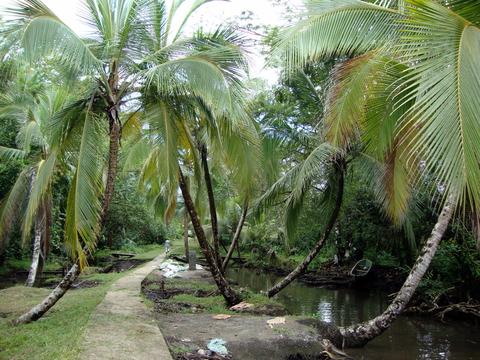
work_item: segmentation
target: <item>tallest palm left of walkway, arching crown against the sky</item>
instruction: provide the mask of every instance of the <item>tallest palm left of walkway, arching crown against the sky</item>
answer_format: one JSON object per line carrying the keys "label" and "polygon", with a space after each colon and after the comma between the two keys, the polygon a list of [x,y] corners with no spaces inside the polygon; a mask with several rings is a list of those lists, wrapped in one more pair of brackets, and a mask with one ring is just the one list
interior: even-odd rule
{"label": "tallest palm left of walkway, arching crown against the sky", "polygon": [[[101,223],[114,191],[122,127],[139,106],[142,88],[159,97],[196,96],[219,112],[230,106],[225,74],[235,69],[223,72],[222,66],[231,63],[236,51],[202,36],[183,37],[188,18],[206,2],[175,0],[168,7],[163,0],[85,0],[81,17],[88,28],[85,36],[76,34],[41,0],[18,0],[9,9],[9,36],[20,39],[27,59],[53,58],[90,83],[91,101],[83,104],[86,109],[95,104],[96,117],[109,128]],[[81,246],[76,255],[85,257]],[[71,270],[74,278],[79,269]],[[64,291],[58,294],[61,297]],[[50,299],[49,307],[58,298]]]}

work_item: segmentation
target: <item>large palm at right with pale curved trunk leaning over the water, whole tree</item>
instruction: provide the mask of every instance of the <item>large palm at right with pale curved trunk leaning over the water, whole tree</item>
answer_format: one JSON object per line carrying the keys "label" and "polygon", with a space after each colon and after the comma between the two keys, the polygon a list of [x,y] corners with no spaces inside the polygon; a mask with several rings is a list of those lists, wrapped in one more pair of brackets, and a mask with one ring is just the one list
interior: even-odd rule
{"label": "large palm at right with pale curved trunk leaning over the water, whole tree", "polygon": [[401,314],[435,255],[456,208],[480,206],[480,4],[477,1],[310,1],[281,48],[294,67],[355,57],[337,70],[327,137],[340,147],[359,138],[388,165],[387,211],[405,214],[425,173],[443,204],[430,237],[386,311],[339,329],[362,346]]}

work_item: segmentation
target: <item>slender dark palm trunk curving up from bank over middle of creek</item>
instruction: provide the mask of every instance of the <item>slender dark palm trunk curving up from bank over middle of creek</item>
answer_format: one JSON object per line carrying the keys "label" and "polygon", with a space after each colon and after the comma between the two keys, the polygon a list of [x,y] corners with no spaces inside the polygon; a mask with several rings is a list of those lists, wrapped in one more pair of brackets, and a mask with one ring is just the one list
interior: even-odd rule
{"label": "slender dark palm trunk curving up from bank over middle of creek", "polygon": [[325,240],[328,238],[330,233],[333,230],[333,227],[335,225],[335,222],[337,221],[338,214],[340,213],[340,208],[342,206],[342,200],[343,200],[343,188],[344,188],[344,182],[345,182],[345,166],[343,164],[340,164],[339,167],[339,178],[338,178],[338,192],[337,192],[337,198],[335,201],[335,207],[330,214],[330,218],[328,219],[327,226],[325,228],[325,231],[321,235],[320,239],[317,241],[315,246],[310,250],[306,258],[302,261],[301,264],[299,264],[290,274],[285,276],[280,282],[275,284],[271,289],[267,291],[267,296],[272,297],[278,294],[281,290],[283,290],[286,286],[288,286],[293,280],[295,280],[297,277],[299,277],[301,274],[305,272],[307,269],[308,265],[315,259],[315,257],[318,255],[320,250],[322,249],[323,245],[325,244]]}

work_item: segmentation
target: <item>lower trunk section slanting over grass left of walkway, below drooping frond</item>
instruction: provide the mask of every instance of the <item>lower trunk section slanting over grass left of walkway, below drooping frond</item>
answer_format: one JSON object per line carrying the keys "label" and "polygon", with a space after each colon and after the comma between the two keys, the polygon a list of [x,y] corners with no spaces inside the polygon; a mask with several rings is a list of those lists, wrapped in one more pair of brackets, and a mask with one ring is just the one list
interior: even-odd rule
{"label": "lower trunk section slanting over grass left of walkway, below drooping frond", "polygon": [[31,310],[15,320],[14,324],[27,324],[40,319],[43,314],[45,314],[53,305],[55,305],[63,295],[65,295],[79,274],[80,267],[78,264],[73,265],[60,284],[58,284],[57,287],[53,289],[53,291],[45,299],[43,299],[40,304],[34,306]]}

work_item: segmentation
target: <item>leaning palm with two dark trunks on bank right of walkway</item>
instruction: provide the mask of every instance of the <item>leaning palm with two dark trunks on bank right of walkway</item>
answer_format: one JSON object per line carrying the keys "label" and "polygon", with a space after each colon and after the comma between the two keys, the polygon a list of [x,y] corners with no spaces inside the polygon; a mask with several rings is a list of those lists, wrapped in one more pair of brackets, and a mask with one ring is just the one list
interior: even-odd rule
{"label": "leaning palm with two dark trunks on bank right of walkway", "polygon": [[[186,105],[186,99],[182,99]],[[166,104],[154,104],[154,109],[148,111],[149,130],[144,141],[150,144],[142,166],[142,187],[150,193],[158,204],[165,204],[166,216],[173,214],[176,205],[177,189],[180,188],[184,207],[192,222],[192,227],[200,248],[207,259],[212,276],[229,305],[240,301],[240,297],[231,288],[223,275],[222,263],[215,249],[215,235],[218,236],[217,204],[213,196],[213,182],[209,163],[215,163],[217,168],[223,164],[226,172],[238,174],[237,179],[247,181],[250,165],[245,162],[249,153],[248,146],[255,147],[254,137],[248,127],[228,124],[226,119],[214,117],[212,113],[182,109],[180,104],[175,108],[165,109]],[[199,106],[196,99],[192,100],[194,107]],[[204,108],[204,104],[201,105]],[[150,109],[153,110],[153,109]],[[180,114],[183,110],[183,114]],[[234,114],[231,115],[234,118]],[[238,127],[238,128],[237,128]],[[240,134],[239,134],[240,131]],[[254,135],[254,133],[253,133]],[[212,149],[212,151],[208,151]],[[242,151],[237,151],[237,150]],[[250,150],[251,151],[251,150]],[[210,155],[207,155],[210,153]],[[242,166],[243,164],[243,166]],[[240,174],[239,168],[244,172]],[[206,193],[208,211],[210,214],[212,242],[208,241],[205,227],[202,226],[199,205],[188,186],[193,183],[196,194]],[[197,197],[197,200],[199,198]],[[214,230],[215,229],[215,230]]]}

